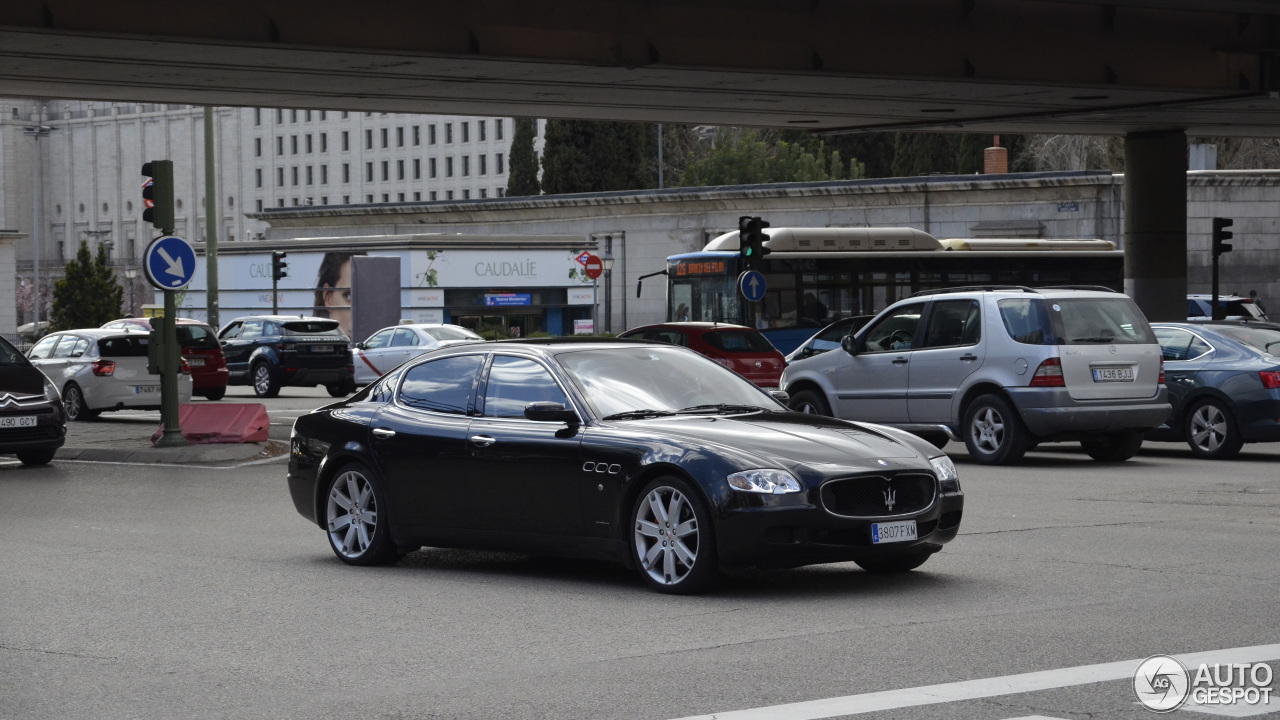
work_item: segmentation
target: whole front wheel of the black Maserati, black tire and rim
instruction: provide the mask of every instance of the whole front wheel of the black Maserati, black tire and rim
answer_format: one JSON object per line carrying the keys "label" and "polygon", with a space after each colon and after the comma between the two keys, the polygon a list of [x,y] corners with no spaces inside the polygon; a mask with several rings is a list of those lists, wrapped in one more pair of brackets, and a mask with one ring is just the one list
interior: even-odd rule
{"label": "whole front wheel of the black Maserati, black tire and rim", "polygon": [[[645,484],[631,506],[628,536],[640,578],[660,593],[701,592],[719,575],[716,528],[707,503],[699,489],[680,478]],[[669,546],[668,537],[673,538]]]}

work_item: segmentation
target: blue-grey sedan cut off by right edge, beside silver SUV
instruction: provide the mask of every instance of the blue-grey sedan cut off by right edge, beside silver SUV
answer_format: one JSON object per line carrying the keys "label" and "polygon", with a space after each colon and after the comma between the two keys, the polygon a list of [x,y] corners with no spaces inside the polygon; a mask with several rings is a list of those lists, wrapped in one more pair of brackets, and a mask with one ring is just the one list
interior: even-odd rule
{"label": "blue-grey sedan cut off by right edge, beside silver SUV", "polygon": [[1280,441],[1280,329],[1249,322],[1156,323],[1174,406],[1147,439],[1185,441],[1199,457],[1234,457]]}

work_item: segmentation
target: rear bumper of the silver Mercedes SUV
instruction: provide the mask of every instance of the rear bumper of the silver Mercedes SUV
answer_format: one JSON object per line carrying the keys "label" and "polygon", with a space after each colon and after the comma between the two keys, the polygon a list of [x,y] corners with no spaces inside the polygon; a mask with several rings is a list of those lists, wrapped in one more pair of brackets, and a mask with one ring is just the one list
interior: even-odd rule
{"label": "rear bumper of the silver Mercedes SUV", "polygon": [[1169,418],[1169,388],[1132,400],[1075,400],[1066,388],[1006,388],[1027,429],[1039,438],[1149,430]]}

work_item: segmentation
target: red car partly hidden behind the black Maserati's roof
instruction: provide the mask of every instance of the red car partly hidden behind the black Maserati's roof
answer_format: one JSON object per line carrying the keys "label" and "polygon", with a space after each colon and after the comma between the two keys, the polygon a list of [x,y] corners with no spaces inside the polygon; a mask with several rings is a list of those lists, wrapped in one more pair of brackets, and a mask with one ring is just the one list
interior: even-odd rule
{"label": "red car partly hidden behind the black Maserati's roof", "polygon": [[630,329],[618,337],[687,347],[724,365],[760,387],[778,387],[787,361],[758,331],[724,323],[662,323]]}

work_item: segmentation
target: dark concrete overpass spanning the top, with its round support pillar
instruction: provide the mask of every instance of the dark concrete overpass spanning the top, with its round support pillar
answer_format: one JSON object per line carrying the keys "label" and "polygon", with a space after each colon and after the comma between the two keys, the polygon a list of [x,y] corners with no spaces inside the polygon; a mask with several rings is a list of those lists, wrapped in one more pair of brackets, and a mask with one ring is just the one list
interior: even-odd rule
{"label": "dark concrete overpass spanning the top, with its round support pillar", "polygon": [[1184,311],[1185,135],[1280,135],[1270,0],[8,0],[0,95],[1125,135],[1130,291]]}

